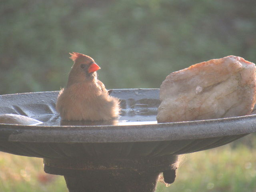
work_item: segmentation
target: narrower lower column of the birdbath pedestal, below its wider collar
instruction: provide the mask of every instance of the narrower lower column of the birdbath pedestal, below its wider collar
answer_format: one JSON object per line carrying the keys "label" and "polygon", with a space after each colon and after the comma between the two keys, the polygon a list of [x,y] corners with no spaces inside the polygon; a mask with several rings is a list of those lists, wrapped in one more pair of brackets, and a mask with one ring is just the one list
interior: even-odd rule
{"label": "narrower lower column of the birdbath pedestal, below its wider collar", "polygon": [[87,172],[64,175],[69,192],[154,192],[160,173]]}

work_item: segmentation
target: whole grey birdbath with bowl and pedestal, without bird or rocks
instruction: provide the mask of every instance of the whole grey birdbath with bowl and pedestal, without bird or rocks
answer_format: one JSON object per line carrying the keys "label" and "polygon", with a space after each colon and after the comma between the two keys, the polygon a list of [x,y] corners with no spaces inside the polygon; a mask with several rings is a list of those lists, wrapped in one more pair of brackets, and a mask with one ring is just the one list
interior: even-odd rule
{"label": "whole grey birdbath with bowl and pedestal, without bird or rocks", "polygon": [[70,192],[153,192],[159,174],[175,179],[178,155],[222,146],[256,132],[256,115],[157,124],[158,89],[116,89],[120,118],[64,122],[58,91],[0,96],[0,114],[38,125],[0,124],[0,151],[44,158],[44,171],[63,175]]}

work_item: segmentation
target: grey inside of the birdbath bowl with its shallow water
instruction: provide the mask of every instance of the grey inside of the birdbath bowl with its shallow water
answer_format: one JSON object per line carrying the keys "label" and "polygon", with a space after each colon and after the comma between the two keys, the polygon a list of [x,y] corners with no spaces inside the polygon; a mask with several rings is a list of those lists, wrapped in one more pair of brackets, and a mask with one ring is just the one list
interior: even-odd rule
{"label": "grey inside of the birdbath bowl with its shallow water", "polygon": [[0,96],[0,115],[9,113],[33,118],[42,124],[37,126],[107,126],[157,124],[157,108],[160,104],[157,89],[113,90],[111,95],[120,98],[121,113],[111,121],[62,121],[56,111],[59,92],[37,92]]}

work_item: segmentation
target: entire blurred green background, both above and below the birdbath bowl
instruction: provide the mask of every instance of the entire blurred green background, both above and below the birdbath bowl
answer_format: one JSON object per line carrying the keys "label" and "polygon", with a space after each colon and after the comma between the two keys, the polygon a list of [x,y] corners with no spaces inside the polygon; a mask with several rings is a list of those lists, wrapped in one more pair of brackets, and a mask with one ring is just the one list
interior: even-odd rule
{"label": "entire blurred green background, both above and below the birdbath bowl", "polygon": [[[228,55],[256,63],[254,0],[2,0],[0,26],[0,94],[59,90],[73,51],[94,58],[106,88],[159,88],[173,71]],[[256,192],[255,141],[192,154],[157,192]],[[42,159],[0,152],[0,191],[66,186]]]}

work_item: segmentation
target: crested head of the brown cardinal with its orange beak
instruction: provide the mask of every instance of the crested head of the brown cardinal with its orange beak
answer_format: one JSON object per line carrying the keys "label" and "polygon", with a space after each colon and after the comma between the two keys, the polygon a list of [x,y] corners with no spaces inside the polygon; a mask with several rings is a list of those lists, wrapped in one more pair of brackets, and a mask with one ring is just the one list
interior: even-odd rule
{"label": "crested head of the brown cardinal with its orange beak", "polygon": [[97,78],[96,71],[100,67],[95,63],[93,58],[77,52],[70,53],[70,55],[70,59],[74,61],[74,65],[70,71],[67,86],[74,83],[92,81]]}

